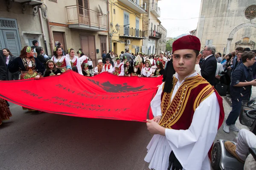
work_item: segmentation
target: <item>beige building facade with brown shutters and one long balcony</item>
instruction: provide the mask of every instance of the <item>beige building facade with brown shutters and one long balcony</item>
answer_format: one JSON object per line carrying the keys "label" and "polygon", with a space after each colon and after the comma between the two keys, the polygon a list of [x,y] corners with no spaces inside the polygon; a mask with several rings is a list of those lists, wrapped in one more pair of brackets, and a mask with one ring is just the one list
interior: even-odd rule
{"label": "beige building facade with brown shutters and one long balcony", "polygon": [[50,37],[64,50],[83,49],[93,65],[108,51],[108,2],[104,0],[45,0]]}

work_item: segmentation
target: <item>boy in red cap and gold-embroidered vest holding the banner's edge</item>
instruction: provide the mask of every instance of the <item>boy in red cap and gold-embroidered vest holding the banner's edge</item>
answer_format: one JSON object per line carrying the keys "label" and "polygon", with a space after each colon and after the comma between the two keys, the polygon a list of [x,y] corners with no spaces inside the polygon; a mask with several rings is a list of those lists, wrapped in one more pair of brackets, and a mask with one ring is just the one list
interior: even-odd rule
{"label": "boy in red cap and gold-embroidered vest holding the banner's edge", "polygon": [[145,161],[154,170],[210,170],[208,155],[224,120],[222,98],[195,72],[200,40],[187,35],[172,46],[176,74],[168,69],[151,101],[154,119],[147,120],[147,127],[155,135]]}

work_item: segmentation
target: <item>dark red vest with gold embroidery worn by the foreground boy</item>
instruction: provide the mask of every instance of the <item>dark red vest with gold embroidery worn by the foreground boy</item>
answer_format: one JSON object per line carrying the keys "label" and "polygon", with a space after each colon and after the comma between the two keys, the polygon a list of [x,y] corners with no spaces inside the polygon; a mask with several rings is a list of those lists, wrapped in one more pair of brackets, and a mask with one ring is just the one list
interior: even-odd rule
{"label": "dark red vest with gold embroidery worn by the foreground boy", "polygon": [[[173,87],[177,83],[177,78],[173,78]],[[161,94],[161,110],[163,118],[160,125],[175,130],[189,129],[195,113],[195,109],[208,96],[215,92],[220,106],[220,116],[218,122],[218,129],[224,121],[224,108],[222,98],[218,92],[201,76],[190,77],[186,79],[179,90],[176,92],[172,102],[172,93],[162,92]],[[207,113],[206,113],[207,114]],[[208,156],[211,156],[211,149]]]}

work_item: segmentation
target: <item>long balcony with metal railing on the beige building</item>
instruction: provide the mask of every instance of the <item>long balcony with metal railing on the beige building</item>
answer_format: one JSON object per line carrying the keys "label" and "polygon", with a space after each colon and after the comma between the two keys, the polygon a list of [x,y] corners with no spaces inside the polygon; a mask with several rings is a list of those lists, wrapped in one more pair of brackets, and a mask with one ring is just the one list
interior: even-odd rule
{"label": "long balcony with metal railing on the beige building", "polygon": [[107,31],[107,15],[82,6],[66,6],[69,28],[90,31]]}

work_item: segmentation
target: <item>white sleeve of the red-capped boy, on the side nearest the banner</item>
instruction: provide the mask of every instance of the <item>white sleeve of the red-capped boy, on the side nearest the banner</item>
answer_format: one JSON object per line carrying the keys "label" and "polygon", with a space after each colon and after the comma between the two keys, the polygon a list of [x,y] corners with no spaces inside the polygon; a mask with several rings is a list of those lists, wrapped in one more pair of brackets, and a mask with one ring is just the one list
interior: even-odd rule
{"label": "white sleeve of the red-capped boy, on the side nearest the banner", "polygon": [[162,88],[163,83],[160,85],[160,87],[157,90],[157,94],[154,96],[152,101],[150,102],[151,110],[153,113],[153,116],[162,116],[161,111],[161,94],[162,94]]}

